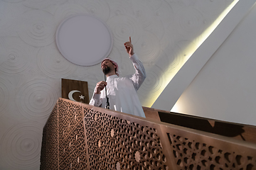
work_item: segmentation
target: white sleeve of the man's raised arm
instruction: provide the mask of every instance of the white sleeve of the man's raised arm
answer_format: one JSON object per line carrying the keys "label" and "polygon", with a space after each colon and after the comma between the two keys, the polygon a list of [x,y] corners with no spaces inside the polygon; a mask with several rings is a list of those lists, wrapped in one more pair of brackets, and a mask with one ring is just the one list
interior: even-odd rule
{"label": "white sleeve of the man's raised arm", "polygon": [[139,61],[136,54],[130,57],[132,60],[132,64],[134,65],[135,73],[132,74],[130,79],[132,80],[132,84],[134,85],[135,90],[137,91],[139,87],[142,85],[144,79],[146,79],[146,71],[141,61]]}

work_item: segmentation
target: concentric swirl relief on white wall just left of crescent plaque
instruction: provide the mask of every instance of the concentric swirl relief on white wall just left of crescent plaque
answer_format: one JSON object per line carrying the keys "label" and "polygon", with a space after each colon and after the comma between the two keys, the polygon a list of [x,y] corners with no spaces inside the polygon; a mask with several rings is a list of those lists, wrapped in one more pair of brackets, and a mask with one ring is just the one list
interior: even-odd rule
{"label": "concentric swirl relief on white wall just left of crescent plaque", "polygon": [[46,79],[33,79],[18,89],[16,104],[18,111],[28,119],[45,119],[53,109],[60,97],[56,85]]}

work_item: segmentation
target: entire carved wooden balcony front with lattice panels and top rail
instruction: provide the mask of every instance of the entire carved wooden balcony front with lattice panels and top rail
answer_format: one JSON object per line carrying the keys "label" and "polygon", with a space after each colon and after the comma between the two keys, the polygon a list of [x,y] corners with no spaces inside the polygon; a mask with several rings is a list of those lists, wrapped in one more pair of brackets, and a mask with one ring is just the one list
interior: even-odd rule
{"label": "entire carved wooden balcony front with lattice panels and top rail", "polygon": [[41,169],[255,169],[256,145],[60,98]]}

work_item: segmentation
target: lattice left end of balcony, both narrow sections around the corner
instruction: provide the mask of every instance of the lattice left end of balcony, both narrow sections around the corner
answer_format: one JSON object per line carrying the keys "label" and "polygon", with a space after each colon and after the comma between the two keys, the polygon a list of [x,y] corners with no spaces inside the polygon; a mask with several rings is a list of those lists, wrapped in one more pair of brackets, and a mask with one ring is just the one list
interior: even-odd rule
{"label": "lattice left end of balcony, both narrow sections around the corner", "polygon": [[41,169],[87,169],[81,106],[59,100],[45,128]]}

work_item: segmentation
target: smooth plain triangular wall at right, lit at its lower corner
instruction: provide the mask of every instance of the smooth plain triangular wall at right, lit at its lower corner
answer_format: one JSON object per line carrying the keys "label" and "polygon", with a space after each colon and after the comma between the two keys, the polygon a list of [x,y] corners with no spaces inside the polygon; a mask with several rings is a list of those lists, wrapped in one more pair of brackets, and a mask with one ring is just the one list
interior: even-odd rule
{"label": "smooth plain triangular wall at right, lit at its lower corner", "polygon": [[210,57],[172,111],[256,125],[256,6]]}

